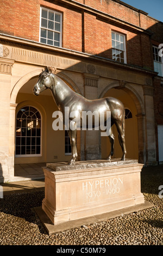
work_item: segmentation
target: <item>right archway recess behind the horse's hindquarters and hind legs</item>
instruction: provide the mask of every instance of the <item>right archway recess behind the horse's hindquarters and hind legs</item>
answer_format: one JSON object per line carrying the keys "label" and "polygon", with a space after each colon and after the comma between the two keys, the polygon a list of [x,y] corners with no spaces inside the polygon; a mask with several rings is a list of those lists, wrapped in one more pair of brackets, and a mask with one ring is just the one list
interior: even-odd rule
{"label": "right archway recess behind the horse's hindquarters and hind legs", "polygon": [[[110,89],[109,89],[110,88]],[[126,109],[126,148],[128,159],[136,159],[139,162],[145,162],[145,137],[142,133],[143,130],[143,104],[136,95],[136,92],[132,92],[130,86],[120,87],[117,84],[112,84],[105,88],[101,97],[111,96],[122,101],[124,108]],[[139,101],[140,100],[140,101]],[[142,119],[140,119],[142,117]],[[139,132],[141,129],[141,132]],[[122,156],[122,149],[118,142],[118,134],[115,125],[112,126],[112,131],[115,136],[115,152],[113,158],[120,158]],[[105,159],[110,153],[109,138],[101,138],[101,151],[102,159]]]}

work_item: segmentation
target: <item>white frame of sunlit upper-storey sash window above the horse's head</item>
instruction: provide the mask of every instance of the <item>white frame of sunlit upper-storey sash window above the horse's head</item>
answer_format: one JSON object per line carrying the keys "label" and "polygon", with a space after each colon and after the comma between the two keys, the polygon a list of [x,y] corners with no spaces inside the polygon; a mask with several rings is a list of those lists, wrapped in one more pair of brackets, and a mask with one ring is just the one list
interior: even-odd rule
{"label": "white frame of sunlit upper-storey sash window above the horse's head", "polygon": [[[55,31],[55,29],[49,29],[49,28],[46,28],[46,27],[41,27],[41,19],[42,19],[42,10],[46,10],[47,12],[51,12],[51,13],[54,13],[54,15],[55,14],[57,14],[57,15],[60,15],[60,32],[59,31]],[[49,19],[47,19],[47,20],[49,20]],[[59,23],[59,22],[58,22]],[[54,34],[53,34],[53,45],[51,45],[51,44],[48,44],[48,38],[47,38],[47,36],[46,36],[46,42],[41,42],[41,38],[43,38],[43,37],[41,37],[41,29],[45,29],[46,31],[49,31],[49,32],[53,32],[53,33],[59,33],[60,34],[60,36],[59,36],[59,46],[55,46],[54,45]],[[41,7],[40,8],[40,35],[39,35],[39,40],[40,40],[40,43],[41,44],[45,44],[45,45],[49,45],[49,46],[54,46],[54,47],[62,47],[62,13],[59,13],[58,11],[54,11],[54,10],[52,10],[52,9],[48,9],[48,8],[44,8],[44,7]]]}

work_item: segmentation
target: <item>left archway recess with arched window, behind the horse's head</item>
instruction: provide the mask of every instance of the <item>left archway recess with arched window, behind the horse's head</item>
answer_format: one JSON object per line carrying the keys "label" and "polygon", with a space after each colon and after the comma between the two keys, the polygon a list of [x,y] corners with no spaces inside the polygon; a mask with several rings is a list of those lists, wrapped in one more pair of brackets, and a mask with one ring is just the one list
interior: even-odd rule
{"label": "left archway recess with arched window, behind the horse's head", "polygon": [[[73,82],[72,85],[69,83],[71,82],[70,79],[68,79],[68,82],[66,81],[67,77],[65,75],[61,74],[59,76],[61,76],[62,79],[64,77],[63,80],[73,90],[76,89],[76,85]],[[29,75],[27,78],[29,78]],[[51,91],[46,90],[39,96],[33,94],[33,86],[37,81],[36,75],[28,80],[22,77],[21,81],[23,84],[19,81],[11,93],[11,99],[15,100],[15,113],[13,113],[14,109],[12,109],[12,117],[15,117],[15,128],[12,132],[12,135],[14,135],[14,140],[12,140],[14,141],[12,152],[15,152],[14,163],[38,164],[58,161],[68,162],[70,160],[70,154],[65,154],[65,131],[54,131],[52,127],[52,115],[54,111],[58,111],[58,108],[53,100]],[[24,83],[24,81],[26,82]],[[79,93],[79,90],[77,90],[77,92]],[[37,111],[37,114],[39,113],[40,118],[32,118],[33,115],[36,114],[35,110]],[[23,114],[26,115],[22,116]],[[40,135],[39,133],[37,134],[37,127],[34,127],[36,122],[40,122],[40,127],[38,127],[38,129],[40,129]],[[25,123],[26,127],[24,126]],[[25,136],[23,136],[23,130],[26,131]],[[27,135],[27,130],[29,131],[30,136],[29,134]],[[35,131],[36,133],[34,134]],[[79,133],[77,135],[77,140],[77,145],[80,147]],[[78,151],[80,151],[79,147],[77,147]]]}

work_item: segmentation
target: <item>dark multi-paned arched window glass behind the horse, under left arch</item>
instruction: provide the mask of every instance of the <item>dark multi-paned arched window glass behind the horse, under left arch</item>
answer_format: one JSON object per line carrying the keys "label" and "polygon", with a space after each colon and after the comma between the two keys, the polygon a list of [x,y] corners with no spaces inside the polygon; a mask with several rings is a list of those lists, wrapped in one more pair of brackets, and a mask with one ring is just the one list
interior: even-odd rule
{"label": "dark multi-paned arched window glass behind the horse, under left arch", "polygon": [[41,154],[41,115],[36,108],[26,106],[16,117],[16,156]]}

